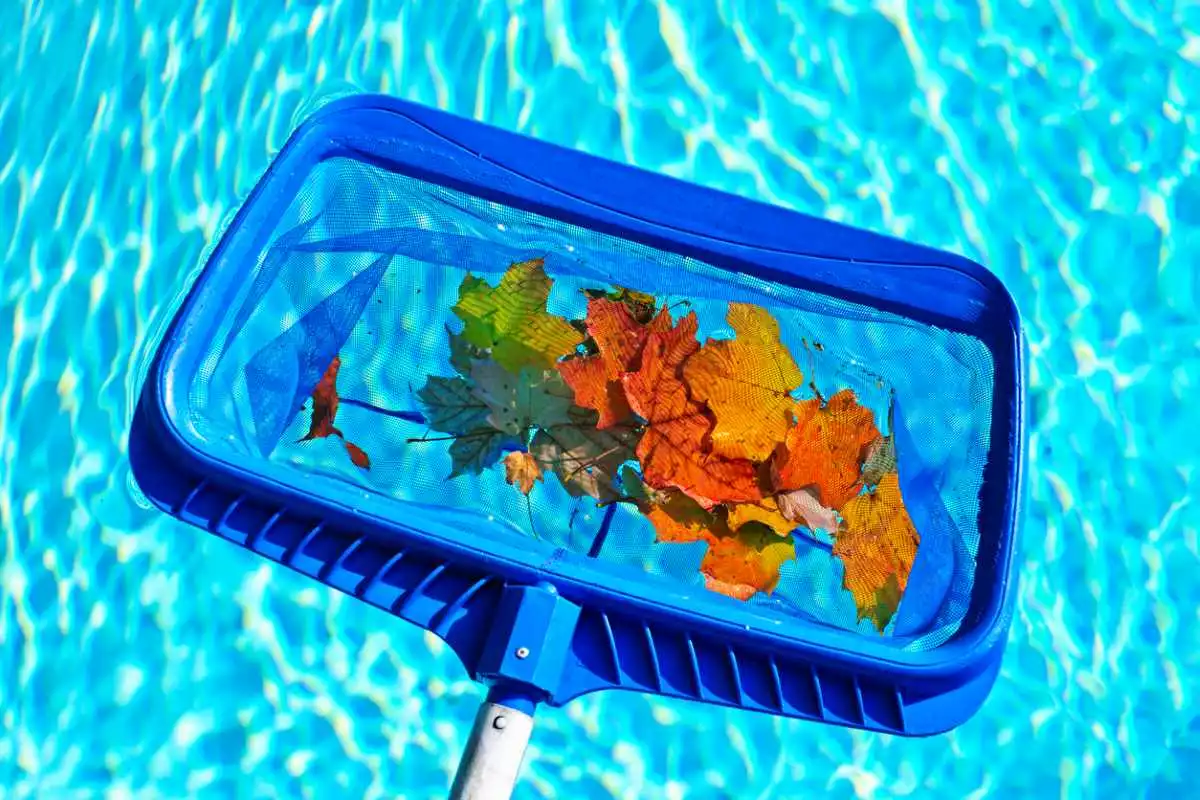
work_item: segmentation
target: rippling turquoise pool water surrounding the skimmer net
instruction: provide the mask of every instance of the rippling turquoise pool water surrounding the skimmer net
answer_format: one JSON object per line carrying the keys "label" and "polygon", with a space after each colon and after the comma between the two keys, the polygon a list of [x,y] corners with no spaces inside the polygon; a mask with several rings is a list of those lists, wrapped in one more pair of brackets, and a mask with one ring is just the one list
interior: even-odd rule
{"label": "rippling turquoise pool water surrounding the skimmer net", "polygon": [[518,798],[1187,796],[1189,5],[4,4],[2,794],[444,796],[480,699],[454,656],[139,507],[125,459],[142,348],[353,84],[966,253],[1030,326],[1020,608],[978,716],[911,741],[595,696],[539,715]]}

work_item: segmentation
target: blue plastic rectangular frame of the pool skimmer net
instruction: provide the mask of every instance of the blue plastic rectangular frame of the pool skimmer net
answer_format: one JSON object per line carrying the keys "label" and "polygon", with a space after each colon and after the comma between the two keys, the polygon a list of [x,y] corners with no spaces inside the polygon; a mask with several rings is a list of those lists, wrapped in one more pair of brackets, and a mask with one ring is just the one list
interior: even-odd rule
{"label": "blue plastic rectangular frame of the pool skimmer net", "polygon": [[[977,337],[995,362],[976,590],[960,633],[907,652],[853,632],[773,631],[706,591],[660,591],[563,553],[550,578],[517,548],[464,543],[467,517],[353,487],[322,498],[294,471],[215,455],[181,380],[275,222],[323,160],[352,157],[721,269],[862,302]],[[902,735],[965,722],[995,680],[1016,593],[1024,498],[1020,318],[990,272],[950,253],[715,192],[383,96],[307,119],[224,231],[173,319],[131,431],[134,477],[163,511],[443,637],[474,676],[553,705],[631,688]],[[388,505],[388,504],[391,505]],[[512,648],[535,640],[535,657]],[[511,645],[511,646],[510,646]],[[511,692],[510,692],[511,693]]]}

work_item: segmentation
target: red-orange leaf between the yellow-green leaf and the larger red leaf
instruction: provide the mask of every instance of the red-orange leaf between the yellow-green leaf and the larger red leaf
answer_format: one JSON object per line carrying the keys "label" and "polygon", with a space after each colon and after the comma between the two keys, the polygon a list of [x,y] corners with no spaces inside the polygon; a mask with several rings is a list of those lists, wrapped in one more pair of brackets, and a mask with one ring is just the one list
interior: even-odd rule
{"label": "red-orange leaf between the yellow-green leaf and the larger red leaf", "polygon": [[635,319],[625,302],[605,295],[588,301],[584,330],[595,354],[560,361],[558,369],[575,391],[575,402],[598,411],[596,427],[607,428],[631,414],[620,378],[641,354],[650,329]]}

